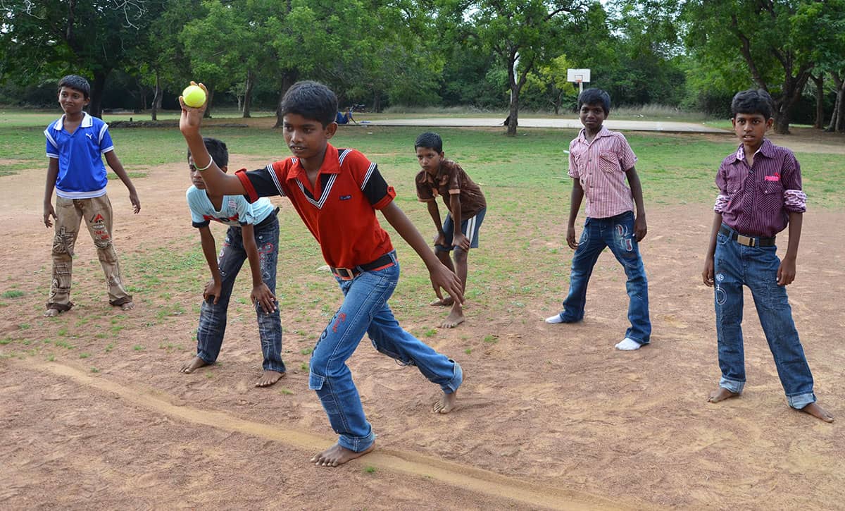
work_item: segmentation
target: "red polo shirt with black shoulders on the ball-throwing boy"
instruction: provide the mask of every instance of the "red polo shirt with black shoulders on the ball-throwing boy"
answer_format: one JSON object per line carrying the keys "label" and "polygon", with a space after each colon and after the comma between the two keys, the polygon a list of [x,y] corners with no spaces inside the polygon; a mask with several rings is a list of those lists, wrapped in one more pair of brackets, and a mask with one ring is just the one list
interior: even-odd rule
{"label": "red polo shirt with black shoulders on the ball-throwing boy", "polygon": [[352,268],[393,250],[375,210],[390,204],[396,192],[359,151],[327,145],[316,189],[296,157],[235,175],[250,202],[271,195],[290,199],[329,266]]}

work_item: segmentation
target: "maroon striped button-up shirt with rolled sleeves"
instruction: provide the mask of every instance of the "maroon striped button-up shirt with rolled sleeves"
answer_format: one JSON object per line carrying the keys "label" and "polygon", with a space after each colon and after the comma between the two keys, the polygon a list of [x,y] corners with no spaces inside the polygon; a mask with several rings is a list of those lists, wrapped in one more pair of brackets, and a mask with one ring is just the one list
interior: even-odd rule
{"label": "maroon striped button-up shirt with rolled sleeves", "polygon": [[787,227],[789,212],[807,210],[798,160],[768,139],[750,167],[742,145],[722,160],[716,185],[719,196],[713,209],[722,213],[723,223],[747,236],[771,238]]}

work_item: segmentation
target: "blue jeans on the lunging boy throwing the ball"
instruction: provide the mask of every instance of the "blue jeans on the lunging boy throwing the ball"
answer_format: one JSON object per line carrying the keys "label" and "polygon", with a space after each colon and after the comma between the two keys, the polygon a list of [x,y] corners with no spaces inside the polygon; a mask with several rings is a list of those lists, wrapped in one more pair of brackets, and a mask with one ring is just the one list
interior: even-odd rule
{"label": "blue jeans on the lunging boy throwing the ball", "polygon": [[393,266],[363,272],[352,280],[335,277],[346,298],[311,354],[308,388],[317,391],[332,429],[340,436],[338,444],[357,453],[375,441],[346,365],[364,333],[379,353],[402,365],[416,365],[444,393],[454,393],[463,381],[461,365],[403,330],[393,317],[387,300],[399,283],[399,262],[395,252],[390,255]]}

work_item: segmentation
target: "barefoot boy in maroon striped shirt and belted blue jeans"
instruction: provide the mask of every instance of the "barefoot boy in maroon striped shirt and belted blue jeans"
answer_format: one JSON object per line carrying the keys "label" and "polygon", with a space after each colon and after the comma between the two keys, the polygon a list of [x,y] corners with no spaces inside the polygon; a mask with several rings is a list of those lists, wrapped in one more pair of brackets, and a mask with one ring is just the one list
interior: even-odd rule
{"label": "barefoot boy in maroon striped shirt and belted blue jeans", "polygon": [[[751,289],[760,326],[774,356],[789,406],[832,422],[815,403],[813,376],[789,306],[786,286],[795,279],[795,260],[807,195],[792,151],[766,139],[771,128],[771,96],[742,91],[731,102],[739,148],[716,174],[719,195],[713,210],[710,245],[701,277],[715,285],[716,332],[722,377],[708,401],[736,398],[745,386],[742,338],[743,285]],[[789,226],[783,260],[775,236]]]}

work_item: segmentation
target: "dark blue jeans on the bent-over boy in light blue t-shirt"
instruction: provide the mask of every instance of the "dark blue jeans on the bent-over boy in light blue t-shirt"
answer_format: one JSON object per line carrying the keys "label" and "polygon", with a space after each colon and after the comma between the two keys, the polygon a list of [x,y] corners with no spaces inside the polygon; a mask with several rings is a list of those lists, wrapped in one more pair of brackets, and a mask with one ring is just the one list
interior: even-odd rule
{"label": "dark blue jeans on the bent-over boy in light blue t-shirt", "polygon": [[[255,245],[259,249],[261,280],[275,294],[275,265],[279,255],[279,220],[275,214],[270,221],[254,228]],[[213,300],[204,300],[199,310],[199,328],[197,329],[197,356],[208,364],[213,364],[220,354],[223,336],[226,334],[226,310],[232,297],[235,277],[241,271],[243,261],[247,260],[247,251],[243,248],[241,228],[230,227],[226,231],[226,240],[217,266],[220,267],[221,292],[215,305]],[[261,352],[264,354],[264,371],[285,372],[285,363],[281,361],[281,319],[279,309],[264,312],[255,303],[255,316],[258,317]]]}

